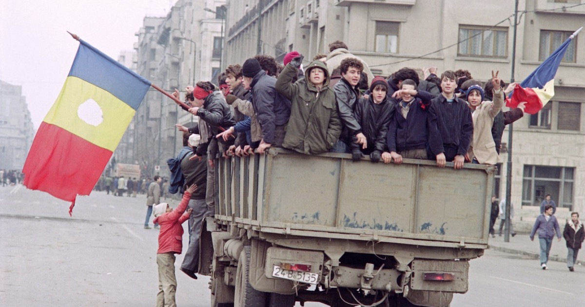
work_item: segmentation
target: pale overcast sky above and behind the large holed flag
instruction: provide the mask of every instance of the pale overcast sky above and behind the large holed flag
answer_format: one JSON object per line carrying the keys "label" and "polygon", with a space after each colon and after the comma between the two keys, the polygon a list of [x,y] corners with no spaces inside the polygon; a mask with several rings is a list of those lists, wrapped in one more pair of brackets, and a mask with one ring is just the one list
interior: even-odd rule
{"label": "pale overcast sky above and behind the large holed flag", "polygon": [[0,0],[0,80],[22,85],[35,129],[57,99],[78,42],[112,58],[132,50],[144,16],[164,16],[172,0]]}

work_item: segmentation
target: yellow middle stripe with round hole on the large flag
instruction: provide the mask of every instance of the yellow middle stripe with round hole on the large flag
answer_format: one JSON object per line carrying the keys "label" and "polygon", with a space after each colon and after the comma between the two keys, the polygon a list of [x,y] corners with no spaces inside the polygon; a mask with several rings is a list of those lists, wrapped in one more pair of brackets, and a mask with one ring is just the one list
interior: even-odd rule
{"label": "yellow middle stripe with round hole on the large flag", "polygon": [[108,91],[80,78],[67,77],[43,121],[114,151],[135,112]]}

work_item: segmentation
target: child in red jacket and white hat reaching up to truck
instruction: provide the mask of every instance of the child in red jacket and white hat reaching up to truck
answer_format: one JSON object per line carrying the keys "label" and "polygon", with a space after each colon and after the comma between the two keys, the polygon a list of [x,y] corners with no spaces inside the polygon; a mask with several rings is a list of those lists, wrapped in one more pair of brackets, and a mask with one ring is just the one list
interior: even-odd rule
{"label": "child in red jacket and white hat reaching up to truck", "polygon": [[[159,293],[156,295],[156,306],[177,306],[175,292],[177,278],[175,277],[175,254],[183,250],[183,226],[189,219],[192,209],[187,208],[191,194],[197,190],[197,185],[191,185],[183,194],[183,199],[177,209],[171,208],[168,203],[159,203],[154,206],[154,223],[160,225],[159,250],[156,255],[156,264],[159,265]],[[183,212],[185,212],[183,214]]]}

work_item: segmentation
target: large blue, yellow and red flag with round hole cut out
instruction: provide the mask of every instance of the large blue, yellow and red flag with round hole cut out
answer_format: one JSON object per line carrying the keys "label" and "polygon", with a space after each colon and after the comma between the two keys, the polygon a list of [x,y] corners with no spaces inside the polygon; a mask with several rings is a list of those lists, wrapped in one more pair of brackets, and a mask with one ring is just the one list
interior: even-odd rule
{"label": "large blue, yellow and red flag with round hole cut out", "polygon": [[70,201],[70,214],[77,195],[90,195],[150,87],[150,81],[79,42],[22,170],[27,188]]}

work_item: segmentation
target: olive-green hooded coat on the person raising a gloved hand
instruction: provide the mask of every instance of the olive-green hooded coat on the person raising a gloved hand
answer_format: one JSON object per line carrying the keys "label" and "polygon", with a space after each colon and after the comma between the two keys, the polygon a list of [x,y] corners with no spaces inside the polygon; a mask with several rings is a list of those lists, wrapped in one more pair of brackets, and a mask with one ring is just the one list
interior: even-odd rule
{"label": "olive-green hooded coat on the person raising a gloved hand", "polygon": [[[320,88],[309,81],[311,69],[321,68],[325,80]],[[342,125],[335,92],[329,88],[329,72],[325,63],[316,60],[305,69],[305,78],[292,83],[297,68],[287,64],[278,75],[276,90],[291,101],[291,116],[283,147],[304,154],[329,151],[339,139]]]}

